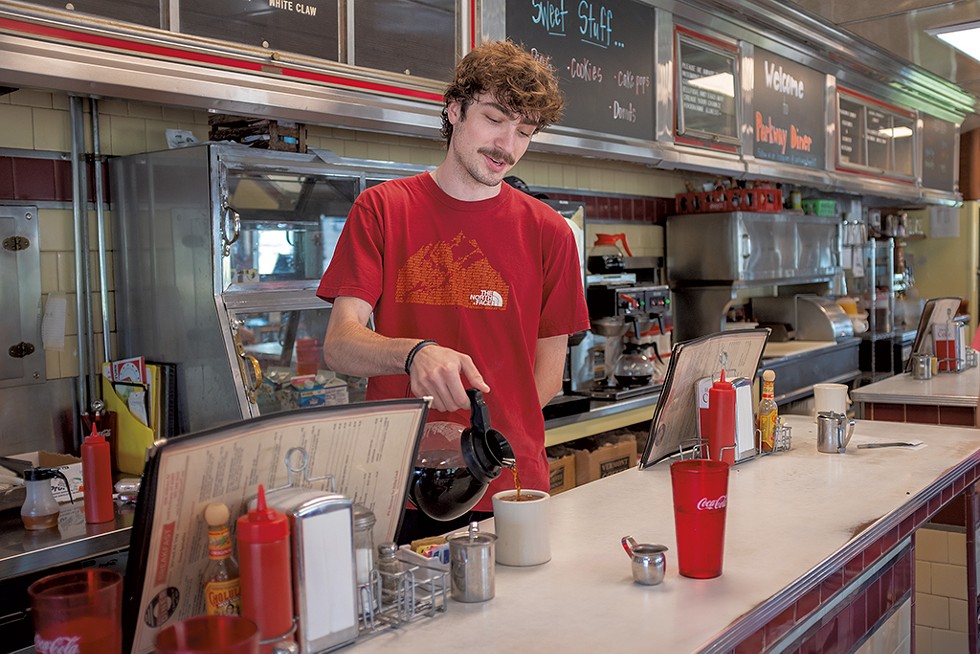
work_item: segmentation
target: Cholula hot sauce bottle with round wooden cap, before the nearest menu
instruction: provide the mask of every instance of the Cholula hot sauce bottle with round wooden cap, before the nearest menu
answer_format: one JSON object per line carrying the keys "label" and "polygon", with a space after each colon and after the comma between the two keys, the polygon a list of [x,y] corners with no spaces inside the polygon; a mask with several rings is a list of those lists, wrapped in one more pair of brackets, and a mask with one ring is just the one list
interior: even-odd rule
{"label": "Cholula hot sauce bottle with round wooden cap, before the nearest menu", "polygon": [[204,521],[208,523],[208,567],[204,569],[204,603],[208,615],[241,614],[241,582],[238,561],[232,555],[231,513],[221,502],[208,504]]}

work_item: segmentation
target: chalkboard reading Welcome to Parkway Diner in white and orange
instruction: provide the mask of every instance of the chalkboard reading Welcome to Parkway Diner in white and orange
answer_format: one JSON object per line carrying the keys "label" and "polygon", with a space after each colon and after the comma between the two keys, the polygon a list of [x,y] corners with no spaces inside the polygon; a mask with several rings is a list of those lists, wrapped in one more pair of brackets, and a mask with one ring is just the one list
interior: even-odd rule
{"label": "chalkboard reading Welcome to Parkway Diner in white and orange", "polygon": [[759,159],[823,168],[827,147],[827,76],[795,61],[755,49],[752,96],[753,154]]}

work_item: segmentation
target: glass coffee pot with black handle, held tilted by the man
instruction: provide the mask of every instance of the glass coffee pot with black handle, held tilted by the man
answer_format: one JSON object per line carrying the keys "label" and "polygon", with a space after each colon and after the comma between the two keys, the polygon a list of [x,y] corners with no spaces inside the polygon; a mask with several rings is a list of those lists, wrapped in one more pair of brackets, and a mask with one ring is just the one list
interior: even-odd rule
{"label": "glass coffee pot with black handle, held tilted by the man", "polygon": [[504,468],[516,465],[514,450],[490,427],[483,394],[470,388],[470,426],[431,422],[425,426],[408,499],[434,520],[453,520],[472,509]]}

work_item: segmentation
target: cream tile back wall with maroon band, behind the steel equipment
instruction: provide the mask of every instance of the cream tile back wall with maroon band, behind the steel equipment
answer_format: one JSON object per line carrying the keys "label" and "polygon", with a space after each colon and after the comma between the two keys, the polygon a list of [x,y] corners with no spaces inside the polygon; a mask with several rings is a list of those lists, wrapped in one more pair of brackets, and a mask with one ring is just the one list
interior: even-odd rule
{"label": "cream tile back wall with maroon band, behind the steel equipment", "polygon": [[[86,151],[92,151],[91,121],[85,106]],[[115,99],[99,102],[101,152],[127,155],[166,149],[166,130],[188,130],[200,140],[208,138],[208,114],[179,107]],[[77,316],[75,315],[74,228],[71,211],[70,166],[64,159],[31,159],[18,151],[67,153],[71,148],[69,98],[60,92],[21,89],[0,96],[0,202],[39,204],[41,241],[41,292],[68,295],[68,327],[63,351],[46,353],[47,378],[78,375]],[[345,157],[359,157],[435,166],[442,161],[442,141],[309,126],[309,147],[331,150]],[[656,198],[672,198],[683,190],[684,178],[646,166],[530,152],[514,173],[536,188],[559,191],[564,199],[585,201],[590,224],[586,249],[596,232],[625,232],[637,256],[664,253],[663,229],[655,226],[668,207]],[[91,175],[90,175],[91,179]],[[616,197],[612,197],[616,196]],[[90,195],[91,197],[91,195]],[[559,195],[554,195],[558,198]],[[107,212],[111,221],[111,212]],[[113,309],[111,228],[109,258],[109,307]],[[93,271],[92,305],[98,352],[103,358],[101,292],[97,280],[97,232],[94,211],[89,218],[89,256]],[[43,299],[42,299],[43,301]],[[110,325],[110,329],[113,329]]]}

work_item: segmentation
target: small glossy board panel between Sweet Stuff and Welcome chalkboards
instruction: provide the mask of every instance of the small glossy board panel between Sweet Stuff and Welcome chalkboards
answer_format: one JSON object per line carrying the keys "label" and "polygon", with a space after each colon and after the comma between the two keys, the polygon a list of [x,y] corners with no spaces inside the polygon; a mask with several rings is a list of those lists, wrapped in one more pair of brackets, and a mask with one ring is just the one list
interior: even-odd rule
{"label": "small glossy board panel between Sweet Stuff and Welcome chalkboards", "polygon": [[677,32],[677,134],[737,144],[738,51]]}

